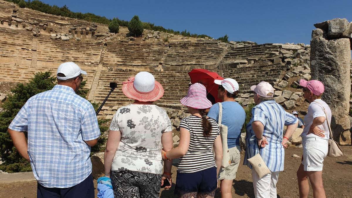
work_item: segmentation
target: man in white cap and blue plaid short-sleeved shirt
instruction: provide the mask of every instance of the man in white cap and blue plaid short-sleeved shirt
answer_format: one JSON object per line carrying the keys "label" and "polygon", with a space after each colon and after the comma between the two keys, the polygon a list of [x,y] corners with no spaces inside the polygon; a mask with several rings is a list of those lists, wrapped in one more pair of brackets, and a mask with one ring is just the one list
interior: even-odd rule
{"label": "man in white cap and blue plaid short-sleeved shirt", "polygon": [[75,93],[82,74],[77,64],[62,63],[57,85],[28,99],[8,127],[14,146],[31,163],[37,197],[94,197],[89,154],[100,130],[92,104]]}

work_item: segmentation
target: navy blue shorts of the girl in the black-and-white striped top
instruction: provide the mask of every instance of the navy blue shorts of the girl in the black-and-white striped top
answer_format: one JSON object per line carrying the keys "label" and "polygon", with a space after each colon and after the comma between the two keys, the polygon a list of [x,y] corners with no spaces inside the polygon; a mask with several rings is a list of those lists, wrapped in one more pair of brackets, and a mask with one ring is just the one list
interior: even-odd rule
{"label": "navy blue shorts of the girl in the black-and-white striped top", "polygon": [[179,197],[214,197],[218,184],[216,168],[211,167],[195,173],[179,173],[176,176],[175,194]]}

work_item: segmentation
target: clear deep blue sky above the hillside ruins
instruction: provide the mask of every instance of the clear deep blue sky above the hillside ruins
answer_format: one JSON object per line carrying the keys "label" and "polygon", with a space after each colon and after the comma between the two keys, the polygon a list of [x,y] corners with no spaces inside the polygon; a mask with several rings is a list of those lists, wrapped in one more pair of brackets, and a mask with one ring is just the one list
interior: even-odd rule
{"label": "clear deep blue sky above the hillside ruins", "polygon": [[226,1],[118,1],[41,0],[67,5],[73,12],[145,22],[175,31],[205,34],[228,40],[260,43],[309,44],[313,24],[333,18],[352,21],[352,0],[226,0]]}

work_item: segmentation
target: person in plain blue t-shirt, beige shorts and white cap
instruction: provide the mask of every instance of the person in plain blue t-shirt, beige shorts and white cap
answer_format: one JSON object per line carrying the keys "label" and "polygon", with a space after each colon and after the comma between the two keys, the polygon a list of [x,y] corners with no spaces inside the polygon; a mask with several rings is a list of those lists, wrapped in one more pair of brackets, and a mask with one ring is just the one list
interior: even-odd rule
{"label": "person in plain blue t-shirt, beige shorts and white cap", "polygon": [[[227,146],[230,154],[231,165],[226,168],[220,168],[218,179],[220,179],[221,197],[232,197],[232,181],[236,178],[236,172],[240,161],[240,137],[243,123],[246,119],[246,113],[242,106],[234,98],[238,94],[238,83],[227,78],[224,80],[214,80],[219,85],[218,98],[223,102],[221,124],[227,126]],[[218,122],[219,104],[210,107],[208,117]],[[223,142],[224,143],[224,142]]]}

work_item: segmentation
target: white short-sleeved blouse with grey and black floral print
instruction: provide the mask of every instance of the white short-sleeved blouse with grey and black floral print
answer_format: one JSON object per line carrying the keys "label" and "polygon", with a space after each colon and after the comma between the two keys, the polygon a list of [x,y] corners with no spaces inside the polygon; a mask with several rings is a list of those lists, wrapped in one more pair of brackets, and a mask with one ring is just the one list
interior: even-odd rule
{"label": "white short-sleeved blouse with grey and black floral print", "polygon": [[129,104],[115,113],[110,130],[121,132],[111,170],[162,174],[161,136],[171,131],[166,111],[157,105]]}

